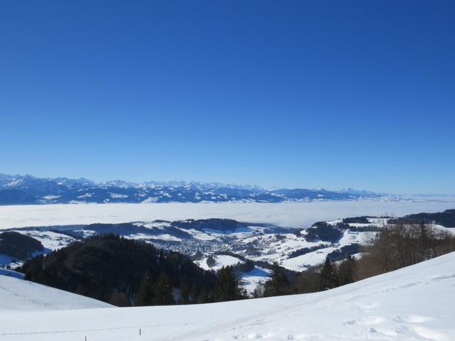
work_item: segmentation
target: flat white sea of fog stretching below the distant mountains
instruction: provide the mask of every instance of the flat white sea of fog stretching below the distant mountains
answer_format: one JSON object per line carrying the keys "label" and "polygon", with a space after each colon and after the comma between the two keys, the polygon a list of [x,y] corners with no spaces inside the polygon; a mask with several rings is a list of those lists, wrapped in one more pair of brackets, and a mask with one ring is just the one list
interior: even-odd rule
{"label": "flat white sea of fog stretching below the distant mountains", "polygon": [[360,215],[409,215],[440,212],[455,202],[387,202],[378,200],[282,203],[165,203],[0,206],[0,229],[50,225],[149,222],[230,218],[240,222],[309,227],[321,220]]}

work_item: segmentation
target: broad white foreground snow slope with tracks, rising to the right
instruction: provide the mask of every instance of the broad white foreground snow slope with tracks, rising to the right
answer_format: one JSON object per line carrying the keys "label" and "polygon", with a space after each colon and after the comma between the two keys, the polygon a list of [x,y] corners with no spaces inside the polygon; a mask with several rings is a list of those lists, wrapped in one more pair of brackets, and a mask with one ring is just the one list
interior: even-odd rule
{"label": "broad white foreground snow slope with tracks, rising to the right", "polygon": [[[0,339],[452,341],[454,288],[452,253],[330,291],[227,303],[20,311],[21,297],[6,296]],[[26,292],[43,297],[33,286]]]}

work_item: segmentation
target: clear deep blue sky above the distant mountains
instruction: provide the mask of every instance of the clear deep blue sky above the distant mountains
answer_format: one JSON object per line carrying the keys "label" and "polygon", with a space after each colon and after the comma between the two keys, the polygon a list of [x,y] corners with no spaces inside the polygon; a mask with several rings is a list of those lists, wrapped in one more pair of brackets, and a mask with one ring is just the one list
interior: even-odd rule
{"label": "clear deep blue sky above the distant mountains", "polygon": [[455,193],[455,1],[1,1],[0,173]]}

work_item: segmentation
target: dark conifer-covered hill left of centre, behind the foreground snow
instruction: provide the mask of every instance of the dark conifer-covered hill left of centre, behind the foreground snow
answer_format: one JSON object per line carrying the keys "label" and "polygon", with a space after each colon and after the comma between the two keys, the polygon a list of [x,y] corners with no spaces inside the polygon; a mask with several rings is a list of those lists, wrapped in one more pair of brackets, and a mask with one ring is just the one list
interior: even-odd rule
{"label": "dark conifer-covered hill left of centre, behind the foreground snow", "polygon": [[235,269],[204,271],[186,256],[102,234],[38,256],[26,279],[118,306],[232,301],[246,298]]}

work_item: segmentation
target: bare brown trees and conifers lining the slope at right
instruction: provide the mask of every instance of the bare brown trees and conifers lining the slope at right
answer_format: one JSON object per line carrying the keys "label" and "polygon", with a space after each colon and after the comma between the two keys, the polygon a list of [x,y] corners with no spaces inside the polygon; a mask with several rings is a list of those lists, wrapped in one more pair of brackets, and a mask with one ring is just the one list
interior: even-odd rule
{"label": "bare brown trees and conifers lining the slope at right", "polygon": [[388,225],[367,242],[359,249],[359,259],[336,261],[329,255],[322,266],[297,274],[292,283],[276,264],[272,278],[258,286],[254,296],[325,291],[455,251],[455,235],[429,224]]}

